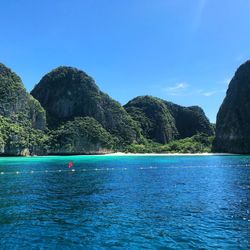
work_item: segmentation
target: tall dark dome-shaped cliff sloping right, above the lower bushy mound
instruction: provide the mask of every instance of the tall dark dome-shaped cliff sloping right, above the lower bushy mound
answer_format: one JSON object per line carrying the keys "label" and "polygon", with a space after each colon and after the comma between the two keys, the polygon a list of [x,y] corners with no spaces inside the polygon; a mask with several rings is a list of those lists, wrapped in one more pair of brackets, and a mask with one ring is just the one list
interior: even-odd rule
{"label": "tall dark dome-shaped cliff sloping right, above the lower bushy mound", "polygon": [[138,128],[124,108],[100,91],[95,81],[81,70],[59,67],[45,75],[31,94],[46,110],[50,128],[88,116],[122,143],[140,140]]}

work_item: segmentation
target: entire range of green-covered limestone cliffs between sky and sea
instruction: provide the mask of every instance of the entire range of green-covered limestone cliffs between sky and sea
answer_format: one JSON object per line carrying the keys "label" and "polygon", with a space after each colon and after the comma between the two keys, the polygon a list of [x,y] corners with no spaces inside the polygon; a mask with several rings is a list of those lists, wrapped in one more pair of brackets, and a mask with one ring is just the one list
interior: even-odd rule
{"label": "entire range of green-covered limestone cliffs between sky and sea", "polygon": [[1,155],[122,152],[250,153],[250,62],[232,79],[214,126],[198,106],[153,96],[122,106],[73,67],[46,74],[29,94],[0,64]]}

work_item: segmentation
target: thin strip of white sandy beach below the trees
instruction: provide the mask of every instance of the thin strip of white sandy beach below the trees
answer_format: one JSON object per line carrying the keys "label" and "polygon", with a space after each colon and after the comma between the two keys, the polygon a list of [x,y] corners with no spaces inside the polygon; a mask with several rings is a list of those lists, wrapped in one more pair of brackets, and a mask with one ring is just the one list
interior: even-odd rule
{"label": "thin strip of white sandy beach below the trees", "polygon": [[235,155],[235,154],[229,154],[229,153],[167,153],[167,154],[157,154],[157,153],[123,153],[123,152],[117,152],[117,153],[110,153],[105,154],[107,156],[226,156],[226,155]]}

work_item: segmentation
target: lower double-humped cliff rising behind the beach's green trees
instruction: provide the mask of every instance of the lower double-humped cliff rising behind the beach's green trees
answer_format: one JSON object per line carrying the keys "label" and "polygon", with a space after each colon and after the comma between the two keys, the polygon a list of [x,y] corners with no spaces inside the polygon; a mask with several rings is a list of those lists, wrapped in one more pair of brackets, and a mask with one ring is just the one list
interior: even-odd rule
{"label": "lower double-humped cliff rising behind the beach's green trees", "polygon": [[124,107],[137,121],[142,134],[159,143],[168,143],[198,133],[214,134],[203,110],[197,106],[182,107],[156,97],[140,96]]}

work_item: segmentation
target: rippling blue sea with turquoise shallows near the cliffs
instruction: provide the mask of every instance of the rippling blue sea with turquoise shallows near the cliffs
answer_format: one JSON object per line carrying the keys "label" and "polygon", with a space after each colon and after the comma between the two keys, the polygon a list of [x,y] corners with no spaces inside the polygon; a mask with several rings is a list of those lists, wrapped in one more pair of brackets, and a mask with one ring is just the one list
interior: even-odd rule
{"label": "rippling blue sea with turquoise shallows near the cliffs", "polygon": [[247,156],[0,158],[0,173],[0,249],[250,248]]}

